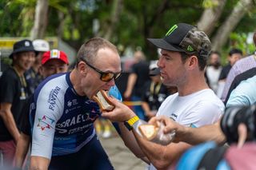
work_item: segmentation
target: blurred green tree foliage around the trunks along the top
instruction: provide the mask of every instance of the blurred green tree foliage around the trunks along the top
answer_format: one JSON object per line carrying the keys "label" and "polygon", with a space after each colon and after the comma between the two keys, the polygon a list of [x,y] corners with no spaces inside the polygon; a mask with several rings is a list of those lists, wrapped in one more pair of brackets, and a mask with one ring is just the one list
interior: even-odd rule
{"label": "blurred green tree foliage around the trunks along the top", "polygon": [[[114,8],[122,2],[121,8]],[[86,39],[104,37],[108,29],[110,42],[122,47],[144,50],[148,58],[157,57],[156,49],[146,38],[161,38],[175,23],[197,24],[203,11],[214,6],[210,0],[50,0],[46,37],[57,36],[78,49]],[[230,15],[238,0],[226,0],[222,15],[216,22],[210,37]],[[0,34],[2,37],[30,36],[34,23],[36,0],[0,0]],[[254,4],[255,6],[255,4]],[[118,14],[113,22],[113,10]],[[238,22],[233,33],[246,34],[256,27],[256,14],[250,10]],[[111,18],[112,17],[112,18]],[[93,30],[93,22],[98,21],[99,30]],[[232,40],[233,41],[233,40]],[[226,48],[229,41],[223,46]],[[228,49],[228,48],[226,48]]]}

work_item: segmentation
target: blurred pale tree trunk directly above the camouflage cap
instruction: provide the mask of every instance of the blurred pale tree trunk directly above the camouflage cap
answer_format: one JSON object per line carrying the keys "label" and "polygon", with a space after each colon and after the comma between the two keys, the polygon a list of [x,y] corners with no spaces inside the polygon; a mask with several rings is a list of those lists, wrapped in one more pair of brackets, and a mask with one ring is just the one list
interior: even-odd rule
{"label": "blurred pale tree trunk directly above the camouflage cap", "polygon": [[198,21],[198,29],[203,30],[208,36],[212,34],[216,26],[216,22],[220,18],[226,0],[211,0],[211,7],[206,8],[200,20]]}

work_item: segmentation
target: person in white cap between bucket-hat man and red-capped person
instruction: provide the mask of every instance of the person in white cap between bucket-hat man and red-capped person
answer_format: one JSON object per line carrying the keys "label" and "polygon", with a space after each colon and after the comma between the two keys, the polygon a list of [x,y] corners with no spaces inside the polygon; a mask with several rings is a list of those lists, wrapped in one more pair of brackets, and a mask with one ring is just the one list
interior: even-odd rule
{"label": "person in white cap between bucket-hat man and red-capped person", "polygon": [[25,78],[28,84],[30,95],[34,93],[34,90],[43,79],[38,70],[41,66],[42,54],[50,50],[50,45],[48,42],[46,42],[46,40],[36,39],[33,41],[33,45],[37,54],[33,65],[25,72]]}

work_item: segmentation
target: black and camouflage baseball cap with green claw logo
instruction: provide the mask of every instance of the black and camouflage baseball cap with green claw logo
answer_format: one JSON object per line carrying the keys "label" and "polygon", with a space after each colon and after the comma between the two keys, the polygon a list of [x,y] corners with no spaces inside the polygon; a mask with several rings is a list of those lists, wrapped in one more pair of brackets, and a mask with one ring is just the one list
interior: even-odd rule
{"label": "black and camouflage baseball cap with green claw logo", "polygon": [[210,39],[197,27],[186,23],[178,23],[168,30],[164,38],[148,38],[160,49],[198,53],[200,57],[208,57],[211,50]]}

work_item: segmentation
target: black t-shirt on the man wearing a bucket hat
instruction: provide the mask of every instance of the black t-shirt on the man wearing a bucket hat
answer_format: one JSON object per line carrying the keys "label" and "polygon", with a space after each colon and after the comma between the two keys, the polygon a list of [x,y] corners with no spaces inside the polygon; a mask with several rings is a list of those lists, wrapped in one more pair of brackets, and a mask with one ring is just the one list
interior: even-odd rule
{"label": "black t-shirt on the man wearing a bucket hat", "polygon": [[[11,103],[10,110],[18,129],[20,129],[22,108],[27,97],[26,85],[22,85],[15,70],[13,68],[6,69],[0,78],[0,103]],[[13,140],[13,137],[0,118],[0,141],[6,140]]]}

